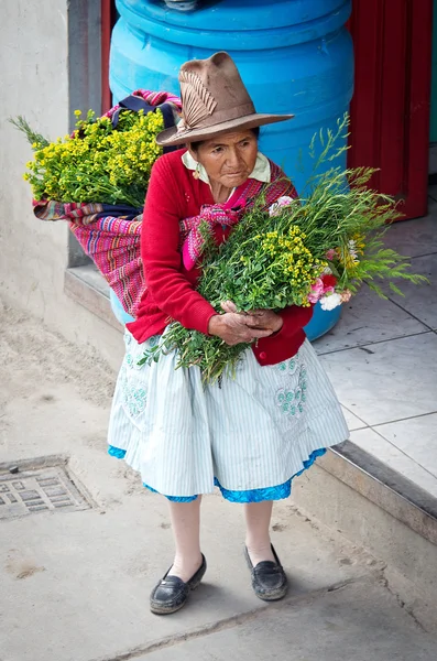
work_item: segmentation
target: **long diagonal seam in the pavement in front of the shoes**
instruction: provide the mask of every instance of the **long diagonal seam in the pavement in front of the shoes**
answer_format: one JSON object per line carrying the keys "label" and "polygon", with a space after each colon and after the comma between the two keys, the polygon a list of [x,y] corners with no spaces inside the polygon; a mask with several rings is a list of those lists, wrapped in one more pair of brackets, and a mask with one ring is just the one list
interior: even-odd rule
{"label": "long diagonal seam in the pavement in front of the shoes", "polygon": [[215,622],[210,622],[208,625],[196,627],[194,629],[188,629],[187,631],[175,633],[172,636],[166,636],[164,638],[160,638],[159,640],[152,641],[144,646],[139,646],[134,649],[129,650],[128,652],[122,652],[117,654],[116,657],[105,657],[99,659],[92,659],[92,661],[132,661],[133,659],[138,659],[139,657],[145,657],[146,654],[152,654],[159,650],[163,650],[166,648],[175,647],[183,642],[188,642],[189,640],[194,640],[196,638],[203,638],[205,636],[210,636],[212,633],[218,633],[226,629],[232,629],[234,627],[240,627],[245,625],[247,622],[256,619],[259,616],[263,615],[266,610],[280,610],[289,605],[297,604],[307,604],[314,602],[315,599],[324,596],[327,593],[336,592],[343,589],[351,585],[352,583],[357,583],[356,578],[348,578],[346,581],[341,581],[339,583],[332,584],[330,586],[310,592],[301,595],[293,595],[288,598],[282,599],[281,602],[271,602],[261,608],[253,608],[252,610],[248,610],[242,614],[232,615],[228,618],[223,618],[221,620],[217,620]]}

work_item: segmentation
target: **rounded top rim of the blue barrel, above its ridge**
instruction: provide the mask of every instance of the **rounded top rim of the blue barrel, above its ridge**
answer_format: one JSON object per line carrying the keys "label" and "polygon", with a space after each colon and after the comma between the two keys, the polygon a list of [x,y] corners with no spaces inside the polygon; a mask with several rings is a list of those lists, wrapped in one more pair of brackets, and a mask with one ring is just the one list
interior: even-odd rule
{"label": "rounded top rim of the blue barrel, above its ridge", "polygon": [[[199,31],[201,34],[195,34],[197,46],[247,50],[253,42],[254,50],[263,50],[312,41],[338,30],[350,15],[351,1],[198,0],[196,11],[179,12],[156,0],[117,0],[117,9],[133,29],[173,43],[194,45],[190,35]],[[241,33],[243,43],[239,45]],[[211,35],[214,45],[208,43]]]}

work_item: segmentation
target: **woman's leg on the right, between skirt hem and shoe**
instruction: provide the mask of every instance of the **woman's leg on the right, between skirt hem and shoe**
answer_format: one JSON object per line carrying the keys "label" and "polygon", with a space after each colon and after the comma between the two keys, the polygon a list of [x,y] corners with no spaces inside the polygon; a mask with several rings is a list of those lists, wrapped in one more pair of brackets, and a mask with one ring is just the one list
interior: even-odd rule
{"label": "woman's leg on the right, between skirt hem and shoe", "polygon": [[273,500],[244,505],[245,545],[253,566],[263,560],[275,560],[270,541],[272,508]]}

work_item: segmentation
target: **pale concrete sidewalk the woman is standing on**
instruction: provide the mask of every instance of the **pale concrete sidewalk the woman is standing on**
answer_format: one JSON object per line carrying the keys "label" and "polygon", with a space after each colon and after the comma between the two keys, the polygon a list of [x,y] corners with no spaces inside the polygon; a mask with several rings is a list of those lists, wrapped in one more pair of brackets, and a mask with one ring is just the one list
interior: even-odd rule
{"label": "pale concrete sidewalk the woman is standing on", "polygon": [[[179,614],[152,616],[150,589],[172,560],[170,522],[164,499],[106,454],[113,373],[39,322],[0,317],[1,661],[435,660],[436,639],[387,589],[383,564],[291,501],[277,503],[273,524],[286,600],[254,597],[241,508],[210,496],[205,582]],[[25,487],[32,467],[42,473]],[[23,516],[9,519],[13,492]]]}

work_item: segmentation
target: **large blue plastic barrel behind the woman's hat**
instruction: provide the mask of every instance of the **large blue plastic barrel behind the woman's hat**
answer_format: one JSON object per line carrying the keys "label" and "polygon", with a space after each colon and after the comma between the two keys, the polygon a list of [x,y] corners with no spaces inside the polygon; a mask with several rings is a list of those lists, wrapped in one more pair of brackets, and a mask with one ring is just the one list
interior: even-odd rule
{"label": "large blue plastic barrel behind the woman's hat", "polygon": [[345,26],[350,0],[206,1],[193,12],[154,0],[117,0],[117,9],[110,56],[114,100],[140,87],[178,94],[184,62],[227,51],[258,111],[295,113],[263,128],[260,148],[302,193],[314,164],[308,153],[314,133],[334,130],[352,96],[352,42]]}

